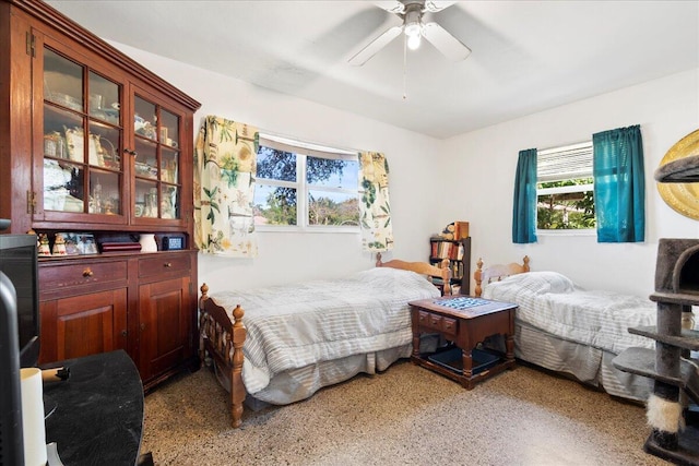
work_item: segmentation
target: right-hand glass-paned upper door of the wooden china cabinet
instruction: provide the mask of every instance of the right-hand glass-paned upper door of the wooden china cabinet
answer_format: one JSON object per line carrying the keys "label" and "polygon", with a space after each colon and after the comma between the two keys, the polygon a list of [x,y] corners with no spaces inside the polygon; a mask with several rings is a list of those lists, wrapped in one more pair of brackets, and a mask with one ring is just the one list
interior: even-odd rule
{"label": "right-hand glass-paned upper door of the wooden china cabinet", "polygon": [[139,95],[134,98],[137,218],[180,218],[180,117]]}

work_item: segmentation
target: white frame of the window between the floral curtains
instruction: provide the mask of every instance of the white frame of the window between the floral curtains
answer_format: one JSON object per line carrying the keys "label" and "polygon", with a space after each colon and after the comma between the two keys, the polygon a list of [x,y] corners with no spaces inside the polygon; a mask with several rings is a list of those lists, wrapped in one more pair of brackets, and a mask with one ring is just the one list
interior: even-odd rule
{"label": "white frame of the window between the floral curtains", "polygon": [[[256,189],[258,184],[266,184],[273,187],[294,188],[296,189],[296,225],[254,225],[256,231],[259,232],[318,232],[318,234],[360,234],[359,222],[353,226],[340,225],[310,225],[308,223],[309,202],[308,195],[311,190],[354,193],[359,200],[359,170],[357,169],[357,182],[355,188],[331,188],[317,184],[309,184],[307,181],[307,162],[308,157],[327,158],[333,160],[348,160],[359,163],[358,151],[350,151],[336,147],[324,146],[315,143],[307,143],[288,138],[277,136],[273,134],[260,133],[260,147],[271,147],[277,151],[292,153],[296,156],[296,181],[282,181],[269,178],[259,178],[256,176]],[[256,154],[257,156],[257,154]],[[358,167],[357,167],[358,168]],[[358,211],[357,211],[358,212]],[[358,213],[357,213],[358,217]]]}

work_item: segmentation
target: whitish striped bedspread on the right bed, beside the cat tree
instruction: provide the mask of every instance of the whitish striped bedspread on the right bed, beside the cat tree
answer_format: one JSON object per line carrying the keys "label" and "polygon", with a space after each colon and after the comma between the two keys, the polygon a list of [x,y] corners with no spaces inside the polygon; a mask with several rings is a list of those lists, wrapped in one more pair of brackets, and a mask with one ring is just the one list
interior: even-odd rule
{"label": "whitish striped bedspread on the right bed, beside the cat tree", "polygon": [[560,338],[618,355],[654,342],[628,327],[654,325],[656,306],[649,298],[588,291],[556,272],[529,272],[487,285],[484,298],[516,302],[516,320]]}

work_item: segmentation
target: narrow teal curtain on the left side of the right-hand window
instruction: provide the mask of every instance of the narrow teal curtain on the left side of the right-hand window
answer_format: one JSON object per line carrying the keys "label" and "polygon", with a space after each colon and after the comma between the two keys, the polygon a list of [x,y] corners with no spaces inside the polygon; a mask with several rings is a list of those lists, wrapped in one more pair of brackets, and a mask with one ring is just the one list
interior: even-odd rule
{"label": "narrow teal curtain on the left side of the right-hand window", "polygon": [[512,242],[536,242],[536,150],[520,151],[514,178]]}

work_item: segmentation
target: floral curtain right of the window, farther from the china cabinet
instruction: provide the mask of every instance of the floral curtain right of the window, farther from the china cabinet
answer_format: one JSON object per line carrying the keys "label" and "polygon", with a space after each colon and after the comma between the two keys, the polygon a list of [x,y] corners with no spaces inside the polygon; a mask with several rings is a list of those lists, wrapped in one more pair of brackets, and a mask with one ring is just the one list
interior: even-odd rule
{"label": "floral curtain right of the window, farther from the china cabinet", "polygon": [[393,249],[389,164],[378,152],[359,153],[359,224],[364,251]]}

